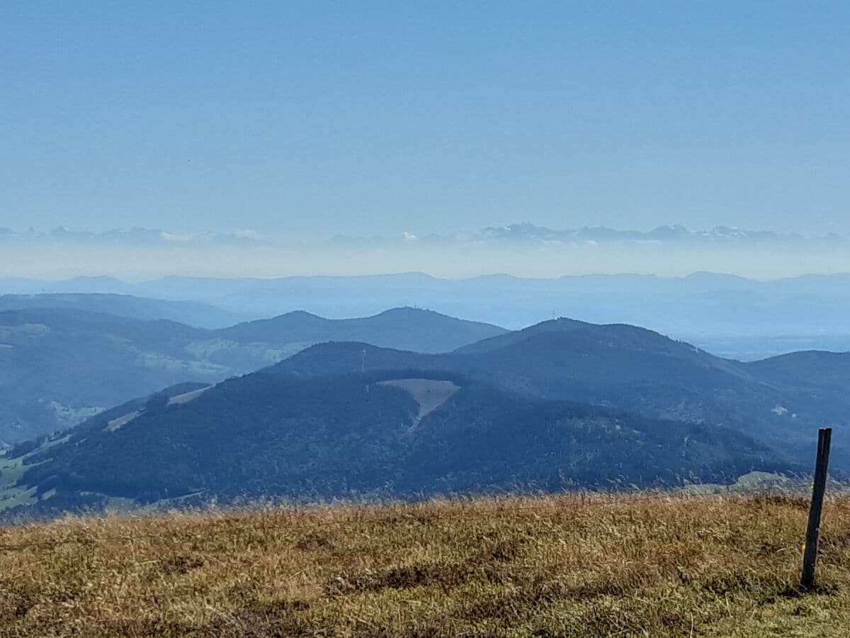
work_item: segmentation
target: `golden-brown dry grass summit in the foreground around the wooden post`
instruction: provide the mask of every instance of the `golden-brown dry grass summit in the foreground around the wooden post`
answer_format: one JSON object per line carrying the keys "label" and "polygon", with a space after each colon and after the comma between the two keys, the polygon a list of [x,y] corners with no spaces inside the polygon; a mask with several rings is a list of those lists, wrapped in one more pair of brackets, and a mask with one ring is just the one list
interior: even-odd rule
{"label": "golden-brown dry grass summit in the foreground around the wooden post", "polygon": [[0,635],[843,636],[850,499],[542,497],[0,531]]}

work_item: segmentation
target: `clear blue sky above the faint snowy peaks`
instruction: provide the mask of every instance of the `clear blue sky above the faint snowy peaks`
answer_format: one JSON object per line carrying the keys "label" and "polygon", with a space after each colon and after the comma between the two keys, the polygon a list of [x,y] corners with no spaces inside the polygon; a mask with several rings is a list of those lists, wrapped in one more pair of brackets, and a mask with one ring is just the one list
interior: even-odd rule
{"label": "clear blue sky above the faint snowy peaks", "polygon": [[850,4],[8,2],[0,226],[850,234]]}

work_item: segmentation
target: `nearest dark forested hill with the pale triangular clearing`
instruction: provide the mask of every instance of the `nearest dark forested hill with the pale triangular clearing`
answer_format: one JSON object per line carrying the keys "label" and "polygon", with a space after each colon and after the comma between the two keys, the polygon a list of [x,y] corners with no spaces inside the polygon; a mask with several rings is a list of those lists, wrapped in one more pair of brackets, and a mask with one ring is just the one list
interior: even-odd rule
{"label": "nearest dark forested hill with the pale triangular clearing", "polygon": [[191,494],[414,496],[718,481],[789,467],[723,427],[540,401],[454,373],[412,374],[253,373],[184,402],[128,404],[130,419],[116,410],[21,447],[16,489],[46,511]]}

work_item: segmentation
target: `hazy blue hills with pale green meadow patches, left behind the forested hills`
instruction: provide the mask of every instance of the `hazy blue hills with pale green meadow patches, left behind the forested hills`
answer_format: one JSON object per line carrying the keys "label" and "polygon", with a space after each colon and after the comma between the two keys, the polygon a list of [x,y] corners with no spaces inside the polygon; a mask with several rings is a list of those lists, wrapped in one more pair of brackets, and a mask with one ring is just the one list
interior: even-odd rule
{"label": "hazy blue hills with pale green meadow patches, left behind the forested hills", "polygon": [[[19,305],[26,307],[2,310]],[[0,441],[62,429],[168,385],[209,385],[252,372],[321,341],[439,352],[505,332],[411,308],[350,320],[292,312],[215,330],[133,318],[157,312],[199,320],[224,315],[210,310],[205,316],[194,302],[115,295],[0,297]]]}

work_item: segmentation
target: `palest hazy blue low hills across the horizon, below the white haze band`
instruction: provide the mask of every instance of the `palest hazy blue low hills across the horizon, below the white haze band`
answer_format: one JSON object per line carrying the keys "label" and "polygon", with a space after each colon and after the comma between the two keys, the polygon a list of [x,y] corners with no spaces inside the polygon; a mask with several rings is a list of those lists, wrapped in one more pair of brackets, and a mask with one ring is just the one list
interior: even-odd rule
{"label": "palest hazy blue low hills across the horizon, below the white haze band", "polygon": [[[850,350],[848,275],[771,282],[711,273],[673,278],[599,275],[525,279],[491,275],[449,280],[405,273],[276,279],[174,276],[138,283],[110,277],[77,277],[64,282],[0,280],[0,293],[42,291],[191,301],[210,310],[205,314],[198,308],[171,308],[161,310],[161,318],[202,328],[222,328],[226,323],[295,309],[341,318],[411,305],[506,328],[523,328],[552,316],[652,326],[717,355],[745,360],[794,350]],[[28,307],[44,304],[37,299],[14,302]],[[56,298],[49,303],[59,305]],[[120,310],[121,303],[109,307],[103,305],[104,300],[98,302],[100,307],[79,303],[81,308],[143,316],[139,310]],[[62,305],[67,304],[63,301]]]}

